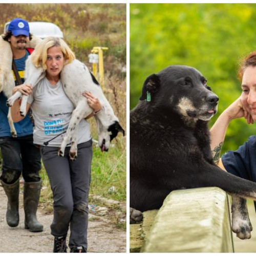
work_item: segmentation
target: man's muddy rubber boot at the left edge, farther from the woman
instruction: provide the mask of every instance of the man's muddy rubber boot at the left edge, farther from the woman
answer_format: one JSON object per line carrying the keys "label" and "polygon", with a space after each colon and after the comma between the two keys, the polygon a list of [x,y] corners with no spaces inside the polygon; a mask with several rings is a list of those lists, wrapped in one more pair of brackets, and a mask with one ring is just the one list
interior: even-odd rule
{"label": "man's muddy rubber boot at the left edge, farther from the woman", "polygon": [[6,221],[10,227],[16,227],[19,222],[18,216],[18,194],[19,194],[19,179],[13,184],[6,184],[1,180],[1,184],[5,190],[5,194],[8,198]]}

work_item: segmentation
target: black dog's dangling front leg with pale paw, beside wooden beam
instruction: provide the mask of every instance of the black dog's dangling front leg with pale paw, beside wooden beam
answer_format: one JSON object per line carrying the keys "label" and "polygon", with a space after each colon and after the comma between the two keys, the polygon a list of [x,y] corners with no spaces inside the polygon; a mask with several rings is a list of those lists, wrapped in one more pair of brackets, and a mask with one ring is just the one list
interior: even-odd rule
{"label": "black dog's dangling front leg with pale paw, beside wooden beam", "polygon": [[251,222],[248,215],[246,199],[232,196],[232,231],[237,233],[240,239],[251,238]]}

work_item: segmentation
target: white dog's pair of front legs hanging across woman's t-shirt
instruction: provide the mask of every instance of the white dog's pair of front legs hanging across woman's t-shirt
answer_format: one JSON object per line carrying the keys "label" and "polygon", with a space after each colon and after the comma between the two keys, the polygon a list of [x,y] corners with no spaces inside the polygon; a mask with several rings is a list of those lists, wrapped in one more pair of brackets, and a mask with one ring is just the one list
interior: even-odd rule
{"label": "white dog's pair of front legs hanging across woman's t-shirt", "polygon": [[[75,160],[77,157],[77,129],[80,120],[84,117],[89,116],[92,113],[92,109],[87,103],[87,100],[80,100],[74,109],[71,120],[69,123],[69,127],[66,135],[63,138],[61,146],[58,151],[59,156],[64,156],[65,148],[68,142],[71,140],[71,148],[70,148],[70,159]],[[73,142],[73,143],[72,143]]]}

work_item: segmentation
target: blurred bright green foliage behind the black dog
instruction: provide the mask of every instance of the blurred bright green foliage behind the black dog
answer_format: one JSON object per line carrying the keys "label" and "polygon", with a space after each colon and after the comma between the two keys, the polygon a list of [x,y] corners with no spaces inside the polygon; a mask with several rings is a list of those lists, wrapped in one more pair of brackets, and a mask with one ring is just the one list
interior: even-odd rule
{"label": "blurred bright green foliage behind the black dog", "polygon": [[[146,77],[169,65],[198,69],[219,97],[217,115],[241,94],[238,62],[256,49],[256,4],[131,4],[130,96],[137,104]],[[232,120],[222,152],[236,150],[255,125]]]}

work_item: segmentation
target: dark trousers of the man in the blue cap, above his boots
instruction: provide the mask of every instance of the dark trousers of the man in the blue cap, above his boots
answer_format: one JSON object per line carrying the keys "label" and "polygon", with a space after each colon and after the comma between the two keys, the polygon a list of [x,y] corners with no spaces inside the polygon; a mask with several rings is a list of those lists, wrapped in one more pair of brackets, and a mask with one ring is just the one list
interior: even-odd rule
{"label": "dark trousers of the man in the blue cap, above his boots", "polygon": [[22,174],[26,182],[40,181],[40,151],[33,143],[32,134],[17,138],[0,137],[0,148],[3,160],[1,180],[12,184]]}

